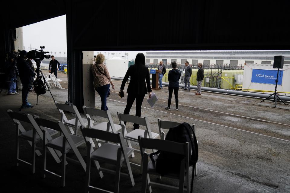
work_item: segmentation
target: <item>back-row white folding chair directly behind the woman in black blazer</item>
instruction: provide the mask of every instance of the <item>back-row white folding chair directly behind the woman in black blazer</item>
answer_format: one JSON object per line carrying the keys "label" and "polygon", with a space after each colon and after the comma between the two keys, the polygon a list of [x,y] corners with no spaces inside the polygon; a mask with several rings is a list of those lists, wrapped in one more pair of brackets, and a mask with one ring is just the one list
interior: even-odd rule
{"label": "back-row white folding chair directly behind the woman in black blazer", "polygon": [[[130,148],[132,148],[130,141],[138,142],[139,135],[141,135],[143,138],[148,137],[151,139],[158,137],[158,135],[159,135],[158,133],[151,132],[150,125],[149,125],[146,117],[141,118],[141,117],[138,117],[135,115],[122,114],[119,112],[117,112],[117,115],[118,115],[119,121],[120,121],[121,126],[122,126],[122,134],[123,134],[124,139],[127,141],[127,144]],[[124,122],[131,122],[131,123],[143,125],[146,127],[146,130],[135,129],[135,130],[127,133],[126,125],[124,124]],[[134,149],[134,150],[137,150],[137,149]],[[140,150],[137,150],[137,151],[140,151]],[[134,157],[134,152],[132,153],[132,157]]]}

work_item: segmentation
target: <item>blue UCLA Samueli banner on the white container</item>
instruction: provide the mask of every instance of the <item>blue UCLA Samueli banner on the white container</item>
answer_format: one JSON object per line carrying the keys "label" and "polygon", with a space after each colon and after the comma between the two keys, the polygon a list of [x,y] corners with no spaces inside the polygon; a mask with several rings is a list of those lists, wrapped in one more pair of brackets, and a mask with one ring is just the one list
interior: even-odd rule
{"label": "blue UCLA Samueli banner on the white container", "polygon": [[[282,84],[283,71],[279,71],[278,84]],[[252,82],[275,84],[277,78],[277,70],[253,69]]]}

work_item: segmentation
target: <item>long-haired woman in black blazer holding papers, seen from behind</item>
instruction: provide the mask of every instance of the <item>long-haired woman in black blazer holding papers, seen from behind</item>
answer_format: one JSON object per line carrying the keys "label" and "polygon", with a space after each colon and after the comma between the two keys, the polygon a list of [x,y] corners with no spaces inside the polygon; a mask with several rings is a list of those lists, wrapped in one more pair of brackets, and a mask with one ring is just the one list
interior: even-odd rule
{"label": "long-haired woman in black blazer holding papers, seen from behind", "polygon": [[[135,64],[131,65],[126,75],[122,81],[121,90],[124,90],[125,84],[129,78],[130,83],[127,89],[128,97],[127,97],[127,105],[124,110],[124,114],[129,114],[130,109],[136,99],[136,116],[141,117],[141,106],[145,94],[148,92],[149,98],[151,97],[151,86],[150,86],[150,76],[149,70],[145,66],[145,56],[143,53],[138,53],[135,59]],[[145,83],[146,79],[146,83]],[[146,88],[147,84],[147,88]],[[126,125],[126,122],[124,122]],[[134,129],[138,129],[139,125],[134,123]]]}

